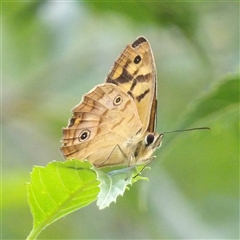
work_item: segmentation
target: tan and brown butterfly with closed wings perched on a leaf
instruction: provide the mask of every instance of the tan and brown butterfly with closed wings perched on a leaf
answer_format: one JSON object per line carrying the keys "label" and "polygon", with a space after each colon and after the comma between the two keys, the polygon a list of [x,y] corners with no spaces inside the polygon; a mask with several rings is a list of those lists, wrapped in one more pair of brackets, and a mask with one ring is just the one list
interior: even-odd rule
{"label": "tan and brown butterfly with closed wings perched on a leaf", "polygon": [[95,167],[151,162],[163,134],[155,132],[156,67],[151,46],[138,37],[127,45],[103,84],[86,93],[62,129],[66,159]]}

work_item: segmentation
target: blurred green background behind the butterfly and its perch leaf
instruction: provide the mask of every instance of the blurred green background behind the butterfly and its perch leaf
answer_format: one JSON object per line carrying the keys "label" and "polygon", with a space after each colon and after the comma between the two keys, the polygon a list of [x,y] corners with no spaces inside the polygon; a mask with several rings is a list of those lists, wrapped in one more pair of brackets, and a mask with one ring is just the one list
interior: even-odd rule
{"label": "blurred green background behind the butterfly and its perch leaf", "polygon": [[150,41],[158,70],[158,132],[212,130],[166,135],[144,172],[149,182],[134,184],[107,209],[91,204],[68,215],[39,239],[239,238],[239,105],[232,89],[220,95],[230,99],[225,107],[203,117],[205,106],[222,106],[213,98],[195,107],[200,116],[186,117],[214,86],[238,79],[238,2],[1,6],[2,239],[26,238],[32,216],[25,183],[33,165],[63,159],[59,140],[70,109],[140,35]]}

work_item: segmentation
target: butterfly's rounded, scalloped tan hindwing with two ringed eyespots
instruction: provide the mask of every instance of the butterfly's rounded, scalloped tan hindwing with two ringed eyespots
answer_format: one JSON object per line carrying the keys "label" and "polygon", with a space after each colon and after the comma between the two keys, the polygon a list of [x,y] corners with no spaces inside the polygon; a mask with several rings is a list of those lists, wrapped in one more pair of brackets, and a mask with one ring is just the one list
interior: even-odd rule
{"label": "butterfly's rounded, scalloped tan hindwing with two ringed eyespots", "polygon": [[102,84],[83,96],[63,128],[65,158],[88,159],[95,166],[127,164],[132,138],[142,129],[133,99],[114,84]]}

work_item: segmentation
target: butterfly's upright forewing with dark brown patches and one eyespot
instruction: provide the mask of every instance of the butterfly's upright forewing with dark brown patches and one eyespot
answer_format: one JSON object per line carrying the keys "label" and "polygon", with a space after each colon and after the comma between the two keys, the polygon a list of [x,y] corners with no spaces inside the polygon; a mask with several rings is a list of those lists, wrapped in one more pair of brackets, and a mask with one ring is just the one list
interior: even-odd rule
{"label": "butterfly's upright forewing with dark brown patches and one eyespot", "polygon": [[142,132],[155,132],[157,113],[156,68],[151,46],[144,37],[127,45],[106,78],[134,100]]}

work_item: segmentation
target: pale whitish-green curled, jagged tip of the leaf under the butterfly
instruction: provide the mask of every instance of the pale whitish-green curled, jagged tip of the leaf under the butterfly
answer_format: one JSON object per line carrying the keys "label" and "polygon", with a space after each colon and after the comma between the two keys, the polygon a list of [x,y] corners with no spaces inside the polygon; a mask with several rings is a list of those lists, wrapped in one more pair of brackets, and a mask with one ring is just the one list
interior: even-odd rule
{"label": "pale whitish-green curled, jagged tip of the leaf under the butterfly", "polygon": [[137,180],[148,180],[140,176],[144,166],[132,166],[119,170],[114,170],[108,174],[98,170],[98,180],[100,184],[100,193],[98,195],[97,205],[99,209],[108,207],[111,202],[116,202],[119,195],[123,196],[127,186]]}

